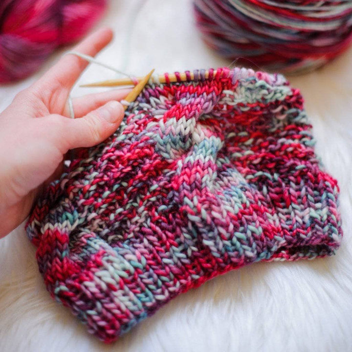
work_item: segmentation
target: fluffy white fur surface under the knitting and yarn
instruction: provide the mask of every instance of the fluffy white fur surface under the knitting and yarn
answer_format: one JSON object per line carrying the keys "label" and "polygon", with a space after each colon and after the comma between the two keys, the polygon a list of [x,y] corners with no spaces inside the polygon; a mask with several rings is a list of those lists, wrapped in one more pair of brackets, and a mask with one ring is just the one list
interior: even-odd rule
{"label": "fluffy white fur surface under the knitting and yarn", "polygon": [[[110,2],[100,24],[110,25],[115,39],[99,60],[135,75],[153,67],[163,73],[230,65],[201,42],[190,0]],[[0,110],[60,54],[35,76],[0,88]],[[306,99],[316,151],[339,181],[344,238],[335,257],[252,264],[227,273],[104,345],[52,301],[21,226],[0,240],[0,351],[352,351],[351,60],[352,49],[319,71],[290,78]],[[80,82],[113,75],[91,66]],[[86,92],[91,90],[73,93]]]}

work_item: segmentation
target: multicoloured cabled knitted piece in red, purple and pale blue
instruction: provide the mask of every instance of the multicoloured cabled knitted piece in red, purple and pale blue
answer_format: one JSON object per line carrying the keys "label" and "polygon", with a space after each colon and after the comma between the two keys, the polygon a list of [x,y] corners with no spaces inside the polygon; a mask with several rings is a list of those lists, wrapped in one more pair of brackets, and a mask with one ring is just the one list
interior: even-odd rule
{"label": "multicoloured cabled knitted piece in red, purple and pale blue", "polygon": [[282,75],[209,72],[146,86],[27,223],[48,291],[106,342],[228,270],[339,246],[338,186],[299,91]]}

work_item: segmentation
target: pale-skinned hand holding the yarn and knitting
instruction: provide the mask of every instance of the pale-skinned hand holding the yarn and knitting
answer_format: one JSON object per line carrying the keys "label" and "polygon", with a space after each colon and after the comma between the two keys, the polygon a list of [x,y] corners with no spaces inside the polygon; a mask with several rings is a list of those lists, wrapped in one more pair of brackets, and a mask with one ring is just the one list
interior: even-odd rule
{"label": "pale-skinned hand holding the yarn and knitting", "polygon": [[[74,50],[95,56],[111,39],[111,30],[101,29]],[[63,56],[0,113],[0,238],[27,218],[44,185],[61,175],[69,150],[96,145],[120,125],[118,101],[126,89],[74,99],[75,119],[69,118],[69,91],[87,65]]]}

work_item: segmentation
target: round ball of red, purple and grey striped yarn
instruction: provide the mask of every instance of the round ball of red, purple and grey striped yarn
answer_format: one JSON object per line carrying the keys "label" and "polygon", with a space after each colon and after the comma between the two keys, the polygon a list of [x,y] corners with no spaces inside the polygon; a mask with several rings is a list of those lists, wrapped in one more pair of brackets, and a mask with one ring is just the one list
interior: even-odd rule
{"label": "round ball of red, purple and grey striped yarn", "polygon": [[318,68],[352,41],[351,0],[194,0],[194,10],[217,53],[275,72]]}

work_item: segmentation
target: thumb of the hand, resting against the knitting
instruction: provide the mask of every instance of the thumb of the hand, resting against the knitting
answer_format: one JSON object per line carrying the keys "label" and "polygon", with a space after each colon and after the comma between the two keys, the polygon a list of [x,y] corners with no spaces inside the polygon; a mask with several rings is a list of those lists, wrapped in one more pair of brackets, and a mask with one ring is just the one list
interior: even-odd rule
{"label": "thumb of the hand, resting against the knitting", "polygon": [[65,118],[68,125],[64,134],[67,149],[91,147],[101,143],[120,126],[124,114],[121,103],[110,101],[84,117]]}

